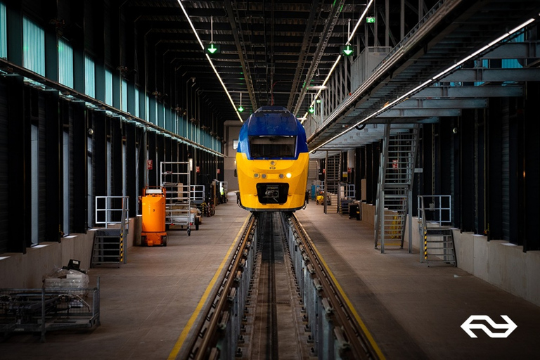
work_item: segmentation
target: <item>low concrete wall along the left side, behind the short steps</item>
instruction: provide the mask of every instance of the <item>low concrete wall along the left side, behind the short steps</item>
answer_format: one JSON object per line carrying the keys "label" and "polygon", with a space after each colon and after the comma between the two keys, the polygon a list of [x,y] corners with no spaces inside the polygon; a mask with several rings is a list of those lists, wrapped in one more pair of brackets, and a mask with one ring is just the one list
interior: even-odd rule
{"label": "low concrete wall along the left side, behind the short steps", "polygon": [[[81,262],[81,269],[90,268],[92,245],[96,229],[72,234],[60,243],[41,243],[28,248],[26,254],[7,252],[0,255],[0,288],[41,288],[43,276],[56,268],[68,265],[70,259]],[[141,217],[129,219],[125,249],[141,243]]]}

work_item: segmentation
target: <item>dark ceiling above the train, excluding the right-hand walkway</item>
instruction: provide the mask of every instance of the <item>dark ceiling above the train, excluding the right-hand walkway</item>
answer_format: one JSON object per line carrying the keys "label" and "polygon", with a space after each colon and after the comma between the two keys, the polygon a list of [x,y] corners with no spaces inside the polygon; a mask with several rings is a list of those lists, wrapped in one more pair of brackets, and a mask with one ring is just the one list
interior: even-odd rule
{"label": "dark ceiling above the train, excluding the right-hand walkway", "polygon": [[[311,100],[305,85],[322,84],[338,58],[340,46],[366,9],[366,2],[181,1],[203,44],[213,40],[221,46],[221,53],[210,59],[234,105],[178,1],[125,1],[120,4],[120,15],[126,23],[133,24],[139,48],[145,48],[136,53],[146,56],[148,88],[163,101],[184,110],[196,93],[200,104],[212,108],[219,120],[225,121],[238,120],[240,94],[245,108],[240,114],[243,119],[260,106],[272,104],[302,116]],[[418,4],[422,4],[421,13],[425,13],[436,2],[405,1],[404,31],[418,23]],[[373,9],[385,11],[383,7],[371,6],[367,15],[374,15]],[[388,24],[387,46],[394,46],[403,31],[399,20],[401,0],[390,0],[388,9],[388,18],[397,20]],[[385,18],[380,15],[379,18]],[[375,25],[363,23],[356,31],[352,44],[358,53],[366,41],[373,46],[375,32],[378,38],[383,37],[385,24],[379,21]]]}

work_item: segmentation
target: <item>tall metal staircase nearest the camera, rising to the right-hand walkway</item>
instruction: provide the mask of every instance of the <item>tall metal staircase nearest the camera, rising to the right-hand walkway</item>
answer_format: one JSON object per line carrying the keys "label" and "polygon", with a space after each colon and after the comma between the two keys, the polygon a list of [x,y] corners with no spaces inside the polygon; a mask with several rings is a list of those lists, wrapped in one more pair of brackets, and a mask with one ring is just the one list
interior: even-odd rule
{"label": "tall metal staircase nearest the camera, rising to the right-hand walkway", "polygon": [[403,248],[407,214],[409,239],[412,238],[411,198],[419,130],[419,124],[412,128],[385,125],[375,207],[375,249],[380,246],[380,252],[385,252],[385,246]]}

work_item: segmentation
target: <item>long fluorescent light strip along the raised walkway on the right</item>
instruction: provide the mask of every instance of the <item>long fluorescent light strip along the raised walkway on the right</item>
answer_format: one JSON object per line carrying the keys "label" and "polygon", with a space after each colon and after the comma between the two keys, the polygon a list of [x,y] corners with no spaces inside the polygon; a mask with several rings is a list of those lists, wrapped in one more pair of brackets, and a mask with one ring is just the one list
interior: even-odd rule
{"label": "long fluorescent light strip along the raised walkway on the right", "polygon": [[443,70],[442,72],[439,72],[439,74],[437,74],[434,77],[432,77],[431,79],[423,82],[422,84],[416,86],[414,89],[408,91],[406,94],[399,96],[399,98],[395,99],[391,103],[388,103],[388,105],[385,105],[383,108],[380,108],[379,110],[375,111],[375,113],[372,113],[371,115],[368,115],[367,117],[364,117],[364,119],[360,120],[359,122],[356,122],[356,124],[354,124],[354,126],[347,128],[347,130],[342,131],[340,134],[334,136],[332,139],[326,141],[322,145],[317,146],[316,148],[311,150],[310,153],[313,153],[314,151],[319,150],[320,148],[327,145],[328,143],[331,143],[332,141],[334,141],[334,140],[340,138],[341,136],[347,134],[349,131],[354,130],[354,128],[356,128],[358,125],[363,124],[364,122],[370,120],[372,117],[376,117],[376,116],[380,115],[380,113],[384,113],[387,110],[387,108],[391,108],[392,106],[397,105],[397,103],[399,103],[399,102],[403,101],[404,99],[408,98],[411,94],[415,93],[416,91],[418,91],[420,89],[423,89],[423,87],[430,84],[430,82],[435,82],[438,79],[444,77],[444,75],[446,75],[448,72],[451,72],[452,70],[456,70],[456,68],[463,65],[463,63],[465,63],[466,61],[470,60],[471,58],[474,58],[475,56],[482,53],[483,51],[486,51],[491,46],[494,46],[495,44],[499,43],[500,41],[503,41],[504,39],[506,39],[510,35],[514,34],[515,32],[518,32],[523,27],[526,27],[530,23],[534,22],[534,20],[535,20],[534,18],[531,18],[531,19],[525,21],[525,23],[522,23],[521,25],[519,25],[517,27],[514,27],[512,30],[510,30],[509,32],[506,32],[506,34],[502,35],[501,37],[498,37],[494,41],[491,41],[489,44],[482,47],[481,49],[479,49],[479,50],[475,51],[474,53],[470,54],[469,56],[459,60],[456,64],[452,65],[449,68],[446,68],[446,70]]}

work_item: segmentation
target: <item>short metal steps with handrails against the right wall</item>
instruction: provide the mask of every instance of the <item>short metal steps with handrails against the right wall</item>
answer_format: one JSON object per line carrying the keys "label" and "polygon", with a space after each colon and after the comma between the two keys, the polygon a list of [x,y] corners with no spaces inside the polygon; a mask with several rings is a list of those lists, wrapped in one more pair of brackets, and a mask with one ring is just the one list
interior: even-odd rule
{"label": "short metal steps with handrails against the right wall", "polygon": [[[430,201],[428,207],[426,201]],[[423,251],[420,251],[420,262],[446,263],[458,266],[456,246],[454,245],[454,231],[451,224],[451,196],[450,195],[419,195],[418,212],[421,216],[423,235]],[[431,219],[428,219],[430,217]]]}

